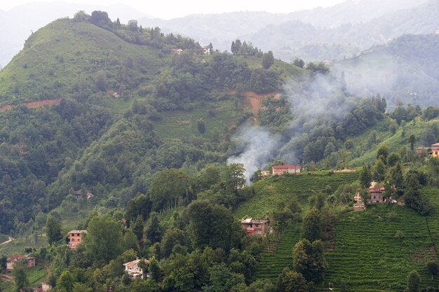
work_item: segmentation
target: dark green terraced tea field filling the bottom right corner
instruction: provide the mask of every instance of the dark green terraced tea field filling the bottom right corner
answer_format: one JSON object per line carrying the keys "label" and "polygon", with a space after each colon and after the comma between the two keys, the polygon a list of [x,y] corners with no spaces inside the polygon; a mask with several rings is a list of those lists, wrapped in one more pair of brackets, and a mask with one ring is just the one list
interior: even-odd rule
{"label": "dark green terraced tea field filling the bottom right corner", "polygon": [[[389,219],[389,213],[395,218]],[[381,204],[349,212],[339,217],[336,234],[321,291],[327,291],[329,282],[340,291],[342,280],[348,291],[403,291],[411,270],[421,274],[422,286],[438,286],[426,270],[426,263],[437,259],[426,218],[411,209]]]}

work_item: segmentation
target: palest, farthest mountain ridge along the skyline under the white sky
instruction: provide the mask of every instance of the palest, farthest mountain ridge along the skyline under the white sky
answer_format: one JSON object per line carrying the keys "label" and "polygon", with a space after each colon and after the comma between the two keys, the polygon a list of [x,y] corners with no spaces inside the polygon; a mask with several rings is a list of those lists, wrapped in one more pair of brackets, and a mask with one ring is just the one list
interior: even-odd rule
{"label": "palest, farthest mountain ridge along the skyline under the white sky", "polygon": [[[259,29],[262,29],[261,34],[264,34],[267,30],[270,31],[270,26],[274,26],[276,31],[285,27],[283,24],[287,22],[292,22],[293,24],[304,22],[319,29],[324,27],[329,29],[346,23],[357,24],[367,22],[386,13],[419,6],[425,1],[349,0],[332,7],[314,8],[294,13],[236,12],[188,15],[184,18],[173,20],[141,18],[139,21],[144,27],[159,26],[165,32],[180,33],[197,39],[201,43],[208,44],[211,42],[219,50],[230,50],[232,40],[240,37],[244,39],[249,37],[256,43],[259,39],[257,36],[253,37],[251,35],[257,33]],[[251,8],[249,10],[251,11]],[[293,26],[291,29],[294,31],[295,27]],[[288,46],[288,44],[281,44],[282,41],[288,39],[288,35],[283,34],[283,32],[270,32],[270,34],[280,34],[280,40],[276,43],[261,41],[258,42],[257,46],[264,45],[266,50],[276,50],[277,46]],[[327,31],[323,30],[320,34],[327,34]],[[262,39],[266,39],[266,36],[264,34]],[[309,36],[302,34],[302,37],[310,39],[311,43],[321,42],[320,36],[313,34]]]}

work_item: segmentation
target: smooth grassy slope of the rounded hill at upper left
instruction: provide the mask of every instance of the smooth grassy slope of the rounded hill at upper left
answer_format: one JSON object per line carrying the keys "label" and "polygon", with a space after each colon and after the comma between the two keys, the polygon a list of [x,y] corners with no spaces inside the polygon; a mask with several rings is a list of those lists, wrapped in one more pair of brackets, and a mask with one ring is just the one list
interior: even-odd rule
{"label": "smooth grassy slope of the rounded hill at upper left", "polygon": [[13,92],[4,96],[0,105],[45,99],[44,90],[53,88],[62,95],[81,78],[93,80],[100,69],[106,70],[109,77],[116,76],[120,74],[118,66],[128,56],[135,67],[143,58],[145,78],[156,74],[162,63],[154,48],[127,43],[85,22],[56,20],[32,34],[25,48],[0,71],[0,95]]}

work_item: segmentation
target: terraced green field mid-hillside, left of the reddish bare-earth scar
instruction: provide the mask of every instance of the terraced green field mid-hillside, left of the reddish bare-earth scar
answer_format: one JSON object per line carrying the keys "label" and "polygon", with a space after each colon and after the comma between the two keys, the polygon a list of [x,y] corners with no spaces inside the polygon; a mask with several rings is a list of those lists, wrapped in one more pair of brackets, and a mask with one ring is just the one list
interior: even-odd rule
{"label": "terraced green field mid-hillside, left of the reddish bare-earth scar", "polygon": [[[215,114],[210,116],[209,110]],[[154,124],[156,133],[162,139],[175,139],[200,135],[196,121],[205,121],[206,131],[203,136],[212,137],[215,131],[221,133],[224,127],[236,125],[238,117],[232,100],[210,103],[210,106],[200,106],[192,111],[168,111],[163,113],[162,120]]]}

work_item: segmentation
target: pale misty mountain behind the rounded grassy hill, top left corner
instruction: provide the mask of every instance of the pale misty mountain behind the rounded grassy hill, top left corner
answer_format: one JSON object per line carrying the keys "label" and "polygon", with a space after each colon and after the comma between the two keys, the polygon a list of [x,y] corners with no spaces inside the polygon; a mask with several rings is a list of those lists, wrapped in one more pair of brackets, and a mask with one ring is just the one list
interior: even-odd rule
{"label": "pale misty mountain behind the rounded grassy hill, top left corner", "polygon": [[120,18],[122,22],[142,18],[146,15],[124,4],[100,6],[93,4],[72,4],[62,1],[37,2],[16,6],[8,11],[0,11],[0,65],[6,66],[23,46],[25,39],[37,29],[57,18],[72,17],[77,11],[91,13],[95,10],[107,11],[111,18]]}

